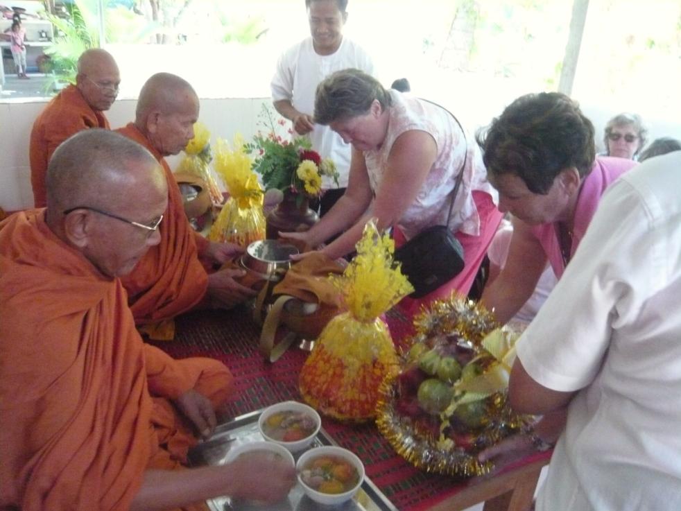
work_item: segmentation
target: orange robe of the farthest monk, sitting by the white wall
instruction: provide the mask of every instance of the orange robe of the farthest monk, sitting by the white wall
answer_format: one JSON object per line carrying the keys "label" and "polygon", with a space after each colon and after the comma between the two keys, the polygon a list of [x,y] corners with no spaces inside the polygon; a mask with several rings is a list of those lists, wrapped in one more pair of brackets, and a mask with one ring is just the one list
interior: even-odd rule
{"label": "orange robe of the farthest monk, sitting by the white wall", "polygon": [[92,110],[75,85],[57,94],[35,119],[28,153],[35,207],[46,206],[45,177],[52,153],[71,135],[88,128],[109,130],[109,121],[103,112]]}

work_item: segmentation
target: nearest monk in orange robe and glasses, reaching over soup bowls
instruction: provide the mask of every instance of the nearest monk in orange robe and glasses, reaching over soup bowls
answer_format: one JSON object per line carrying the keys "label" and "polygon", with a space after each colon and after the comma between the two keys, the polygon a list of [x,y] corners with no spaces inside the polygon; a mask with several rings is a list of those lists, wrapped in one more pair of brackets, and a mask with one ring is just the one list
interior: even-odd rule
{"label": "nearest monk in orange robe and glasses, reaching over soup bowls", "polygon": [[[47,208],[0,223],[0,509],[204,508],[276,501],[295,469],[268,456],[187,469],[187,448],[232,392],[224,365],[145,345],[119,277],[160,243],[162,168],[86,130],[60,146]],[[267,474],[263,478],[263,474]]]}

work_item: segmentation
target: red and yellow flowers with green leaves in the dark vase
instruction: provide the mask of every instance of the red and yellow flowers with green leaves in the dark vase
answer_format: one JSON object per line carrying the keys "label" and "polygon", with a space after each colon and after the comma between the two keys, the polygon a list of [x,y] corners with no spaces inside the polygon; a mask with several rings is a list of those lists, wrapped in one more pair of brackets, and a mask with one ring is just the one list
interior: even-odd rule
{"label": "red and yellow flowers with green leaves in the dark vase", "polygon": [[[279,189],[295,193],[300,198],[313,198],[322,191],[322,175],[331,177],[338,184],[336,165],[312,150],[309,139],[295,137],[289,141],[277,135],[273,112],[267,105],[263,105],[260,117],[268,132],[258,132],[244,148],[246,153],[254,156],[253,170],[261,175],[266,191]],[[278,121],[279,125],[285,122],[284,119]]]}

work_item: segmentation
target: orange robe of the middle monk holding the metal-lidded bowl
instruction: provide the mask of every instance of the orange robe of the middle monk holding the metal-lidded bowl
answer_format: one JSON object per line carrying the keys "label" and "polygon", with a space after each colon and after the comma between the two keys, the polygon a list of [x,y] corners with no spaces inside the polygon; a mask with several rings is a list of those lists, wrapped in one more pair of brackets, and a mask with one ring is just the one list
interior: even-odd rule
{"label": "orange robe of the middle monk holding the metal-lidded bowl", "polygon": [[198,254],[209,242],[189,225],[180,188],[164,157],[134,124],[117,132],[146,147],[166,173],[168,208],[160,225],[161,243],[150,248],[122,281],[137,324],[167,320],[196,306],[206,294],[208,275]]}

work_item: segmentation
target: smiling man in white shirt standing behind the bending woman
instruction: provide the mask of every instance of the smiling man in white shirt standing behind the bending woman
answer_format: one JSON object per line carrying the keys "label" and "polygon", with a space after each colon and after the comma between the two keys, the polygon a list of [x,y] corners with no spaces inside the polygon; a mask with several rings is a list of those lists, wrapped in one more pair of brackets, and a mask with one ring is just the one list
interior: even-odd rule
{"label": "smiling man in white shirt standing behind the bending woman", "polygon": [[[305,0],[311,37],[307,37],[279,58],[272,79],[272,100],[279,114],[293,123],[298,135],[306,135],[312,148],[331,158],[338,170],[338,188],[329,177],[322,178],[321,214],[343,196],[350,170],[350,145],[329,126],[315,124],[312,115],[317,85],[334,71],[356,68],[372,74],[369,55],[343,37],[347,21],[347,0]],[[329,191],[330,190],[330,191]]]}

